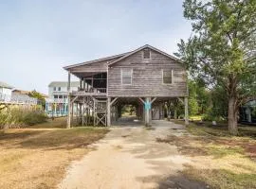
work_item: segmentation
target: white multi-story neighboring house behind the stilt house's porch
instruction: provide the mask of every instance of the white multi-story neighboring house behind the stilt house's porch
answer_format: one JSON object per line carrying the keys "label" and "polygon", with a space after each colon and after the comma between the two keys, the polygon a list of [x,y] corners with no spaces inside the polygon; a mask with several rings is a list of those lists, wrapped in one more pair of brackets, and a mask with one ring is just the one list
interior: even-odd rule
{"label": "white multi-story neighboring house behind the stilt house's porch", "polygon": [[[79,82],[70,83],[72,91],[78,91]],[[46,98],[46,113],[48,116],[67,115],[67,82],[53,81],[48,85],[48,98]]]}

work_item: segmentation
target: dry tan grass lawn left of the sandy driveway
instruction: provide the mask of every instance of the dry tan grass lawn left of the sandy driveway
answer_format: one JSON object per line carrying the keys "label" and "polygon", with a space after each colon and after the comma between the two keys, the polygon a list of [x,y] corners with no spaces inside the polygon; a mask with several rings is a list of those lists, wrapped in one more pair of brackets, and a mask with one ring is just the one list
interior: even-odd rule
{"label": "dry tan grass lawn left of the sandy driveway", "polygon": [[56,129],[63,126],[64,119],[47,124],[33,127],[46,129],[0,130],[1,189],[55,188],[63,179],[67,165],[92,150],[87,146],[108,131],[101,128]]}

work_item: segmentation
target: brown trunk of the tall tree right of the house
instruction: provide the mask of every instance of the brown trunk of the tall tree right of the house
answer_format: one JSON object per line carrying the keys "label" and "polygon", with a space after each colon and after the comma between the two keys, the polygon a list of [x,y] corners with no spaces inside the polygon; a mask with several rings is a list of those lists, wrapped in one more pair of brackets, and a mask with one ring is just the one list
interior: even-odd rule
{"label": "brown trunk of the tall tree right of the house", "polygon": [[235,104],[235,97],[229,97],[229,132],[232,135],[238,134],[237,129],[237,111],[236,111],[236,104]]}

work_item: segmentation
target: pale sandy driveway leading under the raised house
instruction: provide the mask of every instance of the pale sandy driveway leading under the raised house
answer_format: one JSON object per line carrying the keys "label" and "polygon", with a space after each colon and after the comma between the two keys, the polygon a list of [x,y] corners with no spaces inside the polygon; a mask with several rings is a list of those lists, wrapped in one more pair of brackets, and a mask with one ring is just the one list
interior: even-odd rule
{"label": "pale sandy driveway leading under the raised house", "polygon": [[185,132],[183,126],[166,121],[153,122],[152,129],[136,124],[111,128],[91,146],[96,150],[69,167],[59,188],[202,188],[179,174],[190,159],[180,155],[176,146],[156,142],[156,138]]}

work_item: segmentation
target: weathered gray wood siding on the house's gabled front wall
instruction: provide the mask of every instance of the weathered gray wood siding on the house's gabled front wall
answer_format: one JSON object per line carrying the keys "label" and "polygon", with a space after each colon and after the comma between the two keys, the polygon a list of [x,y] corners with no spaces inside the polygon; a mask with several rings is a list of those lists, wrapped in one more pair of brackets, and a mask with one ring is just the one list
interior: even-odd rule
{"label": "weathered gray wood siding on the house's gabled front wall", "polygon": [[[142,59],[143,51],[114,63],[108,68],[109,96],[185,96],[186,71],[181,63],[151,50],[151,60]],[[132,68],[132,85],[121,84],[121,69]],[[174,83],[162,83],[162,69],[174,70]]]}

